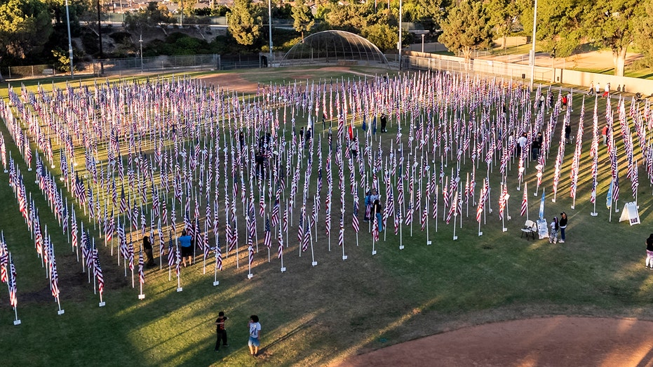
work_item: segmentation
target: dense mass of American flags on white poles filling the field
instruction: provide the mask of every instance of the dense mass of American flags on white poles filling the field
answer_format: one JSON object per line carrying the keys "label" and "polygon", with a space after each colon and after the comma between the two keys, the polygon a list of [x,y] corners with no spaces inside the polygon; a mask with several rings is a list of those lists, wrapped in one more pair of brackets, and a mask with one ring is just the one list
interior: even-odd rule
{"label": "dense mass of American flags on white poles filling the field", "polygon": [[[534,92],[535,101],[545,91],[538,88]],[[400,238],[405,226],[410,226],[412,234],[415,212],[421,213],[422,230],[428,229],[429,217],[435,220],[437,230],[438,209],[447,223],[459,216],[462,227],[463,203],[467,215],[469,203],[476,206],[480,228],[485,206],[491,205],[491,179],[500,182],[499,218],[503,219],[509,198],[509,169],[517,164],[518,175],[510,178],[515,180],[511,185],[521,187],[524,183],[526,194],[525,182],[530,177],[527,168],[531,161],[528,153],[538,132],[543,137],[542,154],[536,157],[534,167],[536,194],[556,140],[554,134],[560,131],[551,185],[555,199],[565,158],[563,126],[572,124],[572,115],[570,109],[561,113],[560,102],[544,107],[533,103],[530,96],[530,91],[521,84],[457,74],[417,73],[390,79],[295,82],[260,86],[257,95],[249,97],[181,78],[143,83],[96,82],[92,88],[68,85],[49,92],[39,86],[36,93],[21,88],[20,95],[10,89],[9,102],[0,103],[0,116],[28,168],[34,160],[41,192],[64,233],[72,238],[73,249],[81,247],[83,253],[97,251],[97,248],[93,250],[94,240],[89,239],[91,225],[100,228],[111,253],[117,234],[118,261],[122,256],[125,272],[129,267],[133,274],[133,243],[149,234],[153,241],[159,240],[156,243],[161,259],[168,251],[169,269],[175,268],[179,281],[180,255],[173,241],[180,227],[194,238],[196,248],[203,253],[205,266],[213,248],[216,272],[222,269],[222,234],[225,255],[236,251],[236,267],[239,266],[238,249],[245,243],[251,274],[254,255],[259,252],[260,230],[262,243],[269,250],[276,236],[277,255],[283,268],[284,248],[294,242],[290,241],[289,227],[295,224],[299,255],[310,248],[311,261],[315,262],[318,225],[324,229],[324,242],[330,250],[333,213],[339,225],[337,241],[344,255],[348,202],[352,205],[351,226],[358,244],[361,194],[370,189],[383,193],[382,201],[386,204],[381,222],[376,215],[370,216],[368,232],[372,233],[373,241],[379,241],[380,229],[386,228],[390,219],[394,233]],[[592,201],[599,173],[601,101],[595,98],[592,122]],[[640,154],[651,177],[652,149],[647,131],[653,120],[648,102],[638,108],[631,101],[629,114],[625,112],[626,102],[618,100],[617,112],[626,153],[622,156],[626,157],[628,178],[636,193],[638,168],[628,121],[633,122]],[[619,154],[617,134],[612,131],[610,103],[610,98],[605,100],[605,121],[611,129],[607,152],[614,185],[612,200],[616,201]],[[570,196],[574,202],[581,171],[584,111],[583,102],[570,165]],[[376,116],[381,112],[391,116],[396,135],[377,133]],[[560,116],[563,124],[558,124]],[[308,123],[298,124],[298,119]],[[333,124],[335,131],[331,128]],[[307,129],[300,135],[298,128],[304,127]],[[524,133],[525,147],[516,156],[516,137]],[[4,166],[10,166],[10,180],[18,182],[15,185],[19,187],[22,175],[11,168],[11,156],[7,164],[4,142],[0,148]],[[55,155],[59,156],[58,162],[54,160]],[[450,165],[447,175],[445,168]],[[497,166],[499,178],[491,175]],[[464,184],[461,169],[467,170]],[[349,173],[347,180],[345,171]],[[485,176],[478,196],[475,194],[477,171]],[[337,173],[337,187],[334,187],[333,173]],[[60,179],[61,187],[55,178]],[[338,196],[339,205],[335,205]],[[74,203],[69,204],[68,198]],[[526,195],[522,215],[527,213],[525,202]],[[88,215],[88,221],[78,223],[75,205]],[[29,211],[29,205],[21,204],[20,197],[19,206],[21,211]],[[325,216],[323,222],[318,219],[321,210]],[[365,211],[369,212],[370,207]],[[181,222],[177,222],[178,212]],[[86,232],[81,230],[79,244],[78,225],[82,222],[87,223],[87,228]],[[209,244],[212,236],[213,243]],[[244,240],[239,241],[243,236]],[[91,246],[90,251],[87,246]],[[142,256],[139,262],[141,259]],[[88,269],[95,269],[94,264],[86,261]],[[142,265],[139,269],[143,282]]]}

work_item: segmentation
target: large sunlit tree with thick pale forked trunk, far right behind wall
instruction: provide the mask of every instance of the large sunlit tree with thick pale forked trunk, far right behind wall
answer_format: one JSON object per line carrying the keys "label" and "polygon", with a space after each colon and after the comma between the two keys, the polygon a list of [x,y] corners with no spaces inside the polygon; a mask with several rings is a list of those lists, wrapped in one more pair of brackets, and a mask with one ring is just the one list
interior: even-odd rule
{"label": "large sunlit tree with thick pale forked trunk, far right behind wall", "polygon": [[635,41],[637,20],[644,16],[645,4],[640,0],[598,0],[584,8],[586,34],[595,46],[610,48],[614,75],[624,76],[626,51]]}

